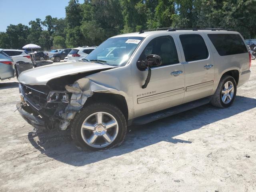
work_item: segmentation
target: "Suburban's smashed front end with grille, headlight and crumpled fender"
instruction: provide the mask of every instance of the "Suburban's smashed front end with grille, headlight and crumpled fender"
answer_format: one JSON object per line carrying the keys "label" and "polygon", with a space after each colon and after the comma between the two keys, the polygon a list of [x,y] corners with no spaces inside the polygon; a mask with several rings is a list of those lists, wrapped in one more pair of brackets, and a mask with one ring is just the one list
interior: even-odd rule
{"label": "Suburban's smashed front end with grille, headlight and crumpled fender", "polygon": [[[44,87],[43,87],[44,88]],[[88,78],[66,85],[62,91],[44,90],[42,86],[20,83],[22,103],[17,104],[21,116],[36,128],[66,130],[70,121],[95,92],[121,94],[114,88],[97,84]]]}

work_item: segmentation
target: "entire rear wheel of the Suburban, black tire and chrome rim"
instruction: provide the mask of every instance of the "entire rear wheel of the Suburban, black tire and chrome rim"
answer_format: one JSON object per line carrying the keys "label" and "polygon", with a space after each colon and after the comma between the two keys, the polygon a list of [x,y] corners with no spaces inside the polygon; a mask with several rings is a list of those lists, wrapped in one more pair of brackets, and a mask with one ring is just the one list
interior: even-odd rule
{"label": "entire rear wheel of the Suburban, black tire and chrome rim", "polygon": [[236,97],[236,81],[232,76],[223,76],[210,102],[218,108],[229,107]]}

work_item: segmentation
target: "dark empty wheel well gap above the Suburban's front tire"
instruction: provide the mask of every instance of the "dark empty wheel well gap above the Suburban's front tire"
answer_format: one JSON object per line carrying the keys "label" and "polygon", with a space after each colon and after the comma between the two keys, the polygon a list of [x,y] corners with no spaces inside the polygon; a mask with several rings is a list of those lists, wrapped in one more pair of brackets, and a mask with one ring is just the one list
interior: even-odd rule
{"label": "dark empty wheel well gap above the Suburban's front tire", "polygon": [[108,102],[113,105],[116,105],[124,114],[126,120],[128,120],[128,106],[124,96],[119,94],[112,94],[112,93],[94,93],[85,104],[91,102]]}

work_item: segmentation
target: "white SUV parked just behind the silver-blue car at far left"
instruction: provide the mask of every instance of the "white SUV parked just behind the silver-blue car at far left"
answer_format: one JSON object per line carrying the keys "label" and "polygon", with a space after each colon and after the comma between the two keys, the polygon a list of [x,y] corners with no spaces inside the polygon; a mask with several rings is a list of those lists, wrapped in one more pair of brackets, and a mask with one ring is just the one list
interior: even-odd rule
{"label": "white SUV parked just behind the silver-blue car at far left", "polygon": [[20,62],[32,62],[30,55],[24,50],[18,49],[4,49],[3,52],[12,58],[14,64],[12,65],[15,68],[16,63]]}

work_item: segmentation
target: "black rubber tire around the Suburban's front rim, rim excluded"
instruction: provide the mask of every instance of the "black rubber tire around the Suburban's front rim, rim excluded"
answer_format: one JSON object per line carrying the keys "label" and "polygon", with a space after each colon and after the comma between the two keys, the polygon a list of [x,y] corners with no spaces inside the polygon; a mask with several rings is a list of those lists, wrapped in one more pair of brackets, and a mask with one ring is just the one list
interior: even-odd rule
{"label": "black rubber tire around the Suburban's front rim, rim excluded", "polygon": [[[88,116],[96,112],[107,112],[112,114],[112,116],[116,118],[119,127],[116,139],[108,146],[102,148],[96,148],[86,144],[81,136],[82,123]],[[126,119],[121,110],[112,104],[104,102],[88,104],[82,108],[82,110],[77,113],[74,119],[70,122],[69,127],[71,129],[71,137],[79,150],[98,151],[120,146],[124,141],[127,132]]]}

